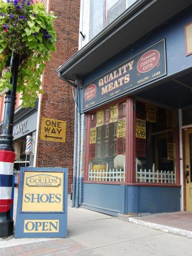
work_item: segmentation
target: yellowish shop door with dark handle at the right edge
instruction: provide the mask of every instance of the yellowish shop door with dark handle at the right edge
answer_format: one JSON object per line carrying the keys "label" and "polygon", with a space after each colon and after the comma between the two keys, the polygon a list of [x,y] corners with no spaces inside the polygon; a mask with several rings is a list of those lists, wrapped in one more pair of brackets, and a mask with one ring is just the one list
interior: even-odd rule
{"label": "yellowish shop door with dark handle at the right edge", "polygon": [[186,210],[192,212],[192,128],[185,130]]}

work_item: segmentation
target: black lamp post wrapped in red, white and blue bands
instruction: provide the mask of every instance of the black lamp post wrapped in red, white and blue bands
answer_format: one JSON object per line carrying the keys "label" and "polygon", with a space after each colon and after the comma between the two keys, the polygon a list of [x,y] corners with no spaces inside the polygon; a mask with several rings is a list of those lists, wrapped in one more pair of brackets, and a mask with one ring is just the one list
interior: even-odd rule
{"label": "black lamp post wrapped in red, white and blue bands", "polygon": [[13,219],[10,218],[12,204],[12,178],[15,152],[13,148],[13,118],[15,112],[16,84],[20,55],[12,54],[10,84],[12,90],[5,95],[2,134],[0,135],[0,237],[13,235]]}

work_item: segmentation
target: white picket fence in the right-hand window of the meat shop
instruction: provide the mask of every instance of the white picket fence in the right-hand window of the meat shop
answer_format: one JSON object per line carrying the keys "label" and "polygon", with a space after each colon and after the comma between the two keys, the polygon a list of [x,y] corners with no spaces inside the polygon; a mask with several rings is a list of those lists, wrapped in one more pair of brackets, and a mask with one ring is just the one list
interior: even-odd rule
{"label": "white picket fence in the right-hand window of the meat shop", "polygon": [[136,169],[136,180],[149,183],[176,183],[176,174],[173,171]]}

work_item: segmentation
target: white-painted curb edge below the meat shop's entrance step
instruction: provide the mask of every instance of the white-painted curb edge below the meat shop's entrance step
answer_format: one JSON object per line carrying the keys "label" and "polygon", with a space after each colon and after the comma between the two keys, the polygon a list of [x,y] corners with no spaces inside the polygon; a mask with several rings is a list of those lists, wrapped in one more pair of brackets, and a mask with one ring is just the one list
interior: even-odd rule
{"label": "white-painted curb edge below the meat shop's entrance step", "polygon": [[187,238],[192,238],[192,232],[188,230],[177,229],[176,227],[163,226],[163,225],[148,222],[148,221],[141,221],[140,219],[135,219],[131,217],[129,217],[128,221],[133,224],[138,224],[144,227],[149,227],[151,229],[160,230],[166,233],[172,233],[174,235],[182,235],[182,236],[186,236]]}

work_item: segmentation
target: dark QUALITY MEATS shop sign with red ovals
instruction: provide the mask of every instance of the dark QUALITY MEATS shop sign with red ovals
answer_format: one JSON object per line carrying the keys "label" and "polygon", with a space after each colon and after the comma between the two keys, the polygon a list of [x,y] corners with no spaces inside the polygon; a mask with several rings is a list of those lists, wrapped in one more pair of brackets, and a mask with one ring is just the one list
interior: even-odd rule
{"label": "dark QUALITY MEATS shop sign with red ovals", "polygon": [[165,39],[126,60],[83,88],[83,110],[166,75]]}

